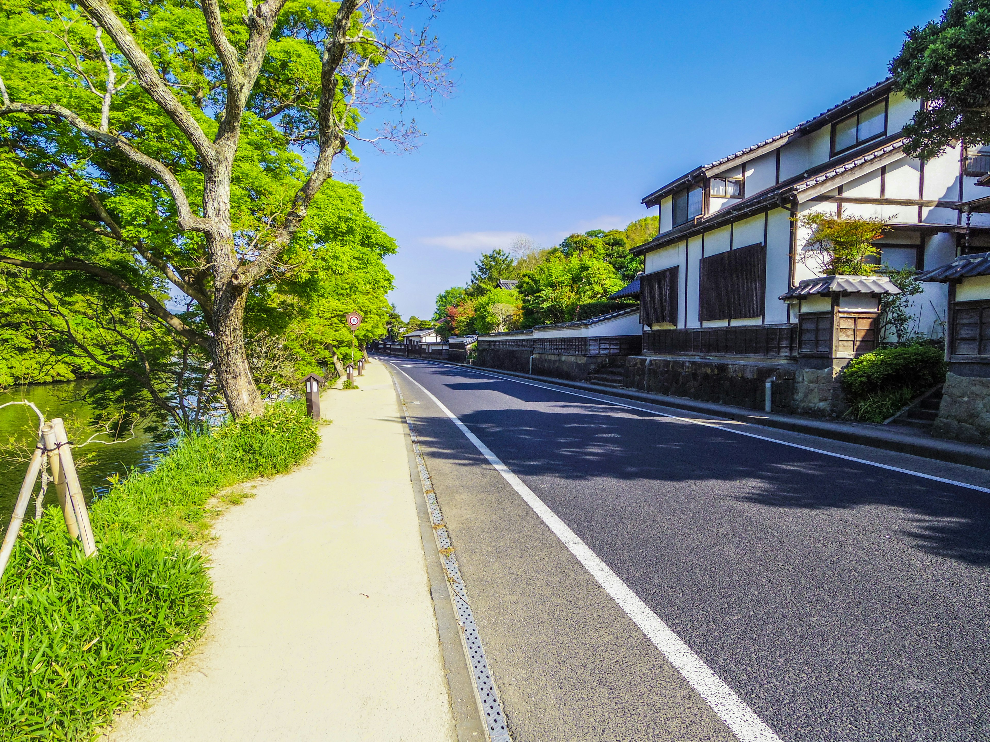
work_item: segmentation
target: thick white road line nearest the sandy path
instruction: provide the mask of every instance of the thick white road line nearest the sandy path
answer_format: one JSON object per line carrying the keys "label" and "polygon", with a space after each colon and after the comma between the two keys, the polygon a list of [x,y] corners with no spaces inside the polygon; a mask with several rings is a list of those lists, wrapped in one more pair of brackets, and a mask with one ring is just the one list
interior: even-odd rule
{"label": "thick white road line nearest the sandy path", "polygon": [[[394,365],[394,364],[393,364]],[[553,534],[560,539],[564,546],[577,557],[577,560],[584,565],[584,568],[598,581],[598,584],[605,589],[612,600],[619,603],[619,606],[626,611],[626,614],[636,622],[663,656],[667,658],[671,665],[684,676],[691,687],[698,692],[698,695],[712,707],[719,715],[726,726],[741,740],[741,742],[782,742],[780,737],[773,733],[762,719],[746,705],[740,696],[729,688],[714,672],[698,657],[691,648],[681,640],[673,630],[667,626],[659,616],[656,615],[649,606],[640,600],[626,583],[603,562],[595,552],[593,552],[582,541],[574,531],[567,527],[553,510],[546,507],[544,502],[527,487],[523,481],[517,477],[501,459],[498,458],[491,449],[488,448],[477,435],[467,429],[467,426],[453,413],[446,409],[444,403],[438,400],[430,391],[411,377],[398,366],[395,366],[403,376],[413,384],[423,390],[434,403],[439,407],[446,417],[455,424],[467,439],[471,441],[475,448],[488,459],[488,462],[495,467],[505,481],[519,493],[530,508],[532,508],[546,523],[546,526],[553,531]],[[501,378],[501,377],[498,377]]]}

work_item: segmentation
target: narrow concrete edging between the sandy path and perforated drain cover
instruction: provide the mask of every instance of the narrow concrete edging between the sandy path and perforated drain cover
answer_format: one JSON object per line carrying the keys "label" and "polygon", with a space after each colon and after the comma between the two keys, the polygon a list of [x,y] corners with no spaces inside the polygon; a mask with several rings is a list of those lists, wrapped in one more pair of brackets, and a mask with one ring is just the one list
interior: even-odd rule
{"label": "narrow concrete edging between the sandy path and perforated drain cover", "polygon": [[[384,364],[387,367],[387,364]],[[395,377],[392,383],[395,384]],[[474,687],[473,674],[467,657],[460,626],[453,612],[453,602],[447,587],[446,573],[437,552],[437,541],[434,538],[433,524],[427,509],[426,493],[420,480],[419,466],[413,451],[413,440],[409,426],[405,424],[405,413],[399,390],[396,388],[395,405],[402,421],[403,439],[406,443],[406,458],[409,463],[409,481],[413,486],[416,500],[416,516],[420,524],[420,537],[423,539],[423,553],[426,556],[427,576],[430,580],[430,595],[433,599],[434,614],[437,619],[437,632],[440,639],[441,654],[444,657],[444,675],[446,676],[447,696],[453,725],[457,732],[457,742],[478,742],[487,740],[487,728],[481,717],[477,691]]]}

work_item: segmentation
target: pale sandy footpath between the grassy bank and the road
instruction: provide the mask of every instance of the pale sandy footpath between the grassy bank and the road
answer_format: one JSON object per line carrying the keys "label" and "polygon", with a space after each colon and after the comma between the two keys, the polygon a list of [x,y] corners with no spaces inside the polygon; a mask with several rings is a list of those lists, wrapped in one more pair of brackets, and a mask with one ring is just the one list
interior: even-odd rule
{"label": "pale sandy footpath between the grassy bank and the road", "polygon": [[206,636],[110,742],[456,739],[395,392],[357,381],[313,459],[219,520]]}

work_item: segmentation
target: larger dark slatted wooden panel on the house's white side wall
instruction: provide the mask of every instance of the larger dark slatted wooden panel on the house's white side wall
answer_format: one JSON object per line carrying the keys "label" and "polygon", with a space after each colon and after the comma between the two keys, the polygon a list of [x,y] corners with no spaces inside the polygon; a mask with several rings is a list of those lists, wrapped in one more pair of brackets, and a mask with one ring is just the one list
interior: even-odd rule
{"label": "larger dark slatted wooden panel on the house's white side wall", "polygon": [[701,258],[698,319],[762,317],[766,247],[750,244]]}

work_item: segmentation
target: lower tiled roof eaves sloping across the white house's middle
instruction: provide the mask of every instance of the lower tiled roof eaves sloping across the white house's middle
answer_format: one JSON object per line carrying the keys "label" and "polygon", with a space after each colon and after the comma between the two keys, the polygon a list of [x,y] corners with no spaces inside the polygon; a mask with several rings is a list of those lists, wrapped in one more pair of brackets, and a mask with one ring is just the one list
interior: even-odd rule
{"label": "lower tiled roof eaves sloping across the white house's middle", "polygon": [[[898,151],[903,146],[904,139],[883,139],[879,143],[881,146],[871,149],[868,152],[849,157],[838,165],[834,161],[827,162],[818,172],[814,170],[803,172],[790,180],[784,181],[775,188],[771,188],[761,194],[757,194],[752,198],[745,199],[735,206],[717,211],[715,214],[711,214],[704,219],[697,219],[694,222],[688,222],[687,224],[681,225],[673,230],[663,232],[662,234],[657,234],[648,242],[641,244],[639,247],[634,247],[631,252],[635,255],[643,255],[646,252],[651,252],[652,250],[666,247],[669,244],[679,242],[680,240],[694,236],[695,234],[708,232],[709,230],[714,230],[715,228],[729,224],[730,222],[743,219],[744,217],[750,216],[756,212],[761,212],[767,207],[773,205],[776,205],[781,209],[788,209],[790,208],[788,202],[795,199],[805,201],[807,198],[810,198],[811,193],[809,193],[809,189],[812,187],[821,186],[823,183],[827,183],[833,178],[839,177],[850,170],[867,164],[868,162],[878,159],[879,157]],[[802,198],[802,196],[805,198]]]}

